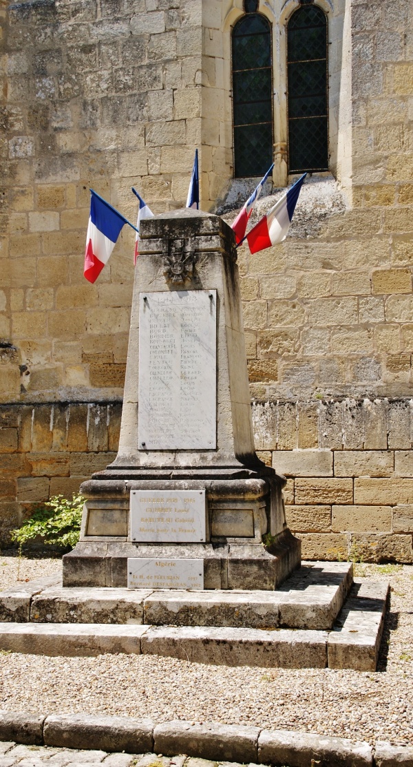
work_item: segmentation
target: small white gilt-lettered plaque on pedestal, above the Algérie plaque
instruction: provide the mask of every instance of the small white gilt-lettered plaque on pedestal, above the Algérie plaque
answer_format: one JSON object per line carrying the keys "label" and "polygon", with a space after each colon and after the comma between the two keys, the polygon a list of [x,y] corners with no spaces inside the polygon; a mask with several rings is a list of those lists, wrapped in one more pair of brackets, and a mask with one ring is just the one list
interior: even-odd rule
{"label": "small white gilt-lettered plaque on pedestal, above the Alg\u00e9rie plaque", "polygon": [[136,543],[199,543],[205,532],[205,490],[131,490],[130,535]]}

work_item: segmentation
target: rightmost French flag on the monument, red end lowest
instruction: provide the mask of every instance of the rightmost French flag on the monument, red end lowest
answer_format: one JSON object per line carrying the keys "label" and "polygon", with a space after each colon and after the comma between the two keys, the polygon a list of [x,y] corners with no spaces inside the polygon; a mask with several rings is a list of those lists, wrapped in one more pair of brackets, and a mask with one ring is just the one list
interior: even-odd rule
{"label": "rightmost French flag on the monument, red end lowest", "polygon": [[263,216],[251,232],[248,232],[246,239],[251,253],[277,245],[287,237],[305,177],[306,173],[303,173],[303,176],[267,212],[267,216]]}

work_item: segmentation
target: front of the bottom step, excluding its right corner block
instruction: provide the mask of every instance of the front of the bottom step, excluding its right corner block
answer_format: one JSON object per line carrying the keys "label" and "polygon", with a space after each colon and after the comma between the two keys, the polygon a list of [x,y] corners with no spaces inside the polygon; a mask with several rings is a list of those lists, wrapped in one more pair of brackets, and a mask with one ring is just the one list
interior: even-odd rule
{"label": "front of the bottom step, excluding its right corner block", "polygon": [[49,656],[143,653],[225,666],[324,668],[325,631],[113,624],[0,624],[0,649]]}

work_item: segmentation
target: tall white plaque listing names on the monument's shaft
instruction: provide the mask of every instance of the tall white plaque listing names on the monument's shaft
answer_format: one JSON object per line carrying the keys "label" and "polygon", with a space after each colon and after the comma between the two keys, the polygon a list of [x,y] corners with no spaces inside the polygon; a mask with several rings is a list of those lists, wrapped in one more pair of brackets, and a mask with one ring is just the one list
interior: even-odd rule
{"label": "tall white plaque listing names on the monument's shaft", "polygon": [[216,447],[216,298],[139,294],[139,449]]}

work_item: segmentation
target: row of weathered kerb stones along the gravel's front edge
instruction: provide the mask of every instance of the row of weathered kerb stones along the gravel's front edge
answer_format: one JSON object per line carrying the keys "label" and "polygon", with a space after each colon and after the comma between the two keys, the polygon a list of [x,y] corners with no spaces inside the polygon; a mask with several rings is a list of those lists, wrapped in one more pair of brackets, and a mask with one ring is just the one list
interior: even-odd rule
{"label": "row of weathered kerb stones along the gravel's front edge", "polygon": [[289,767],[395,767],[413,765],[413,746],[391,746],[307,732],[218,723],[163,722],[123,716],[35,715],[0,712],[0,740],[107,752],[182,753],[200,759]]}

